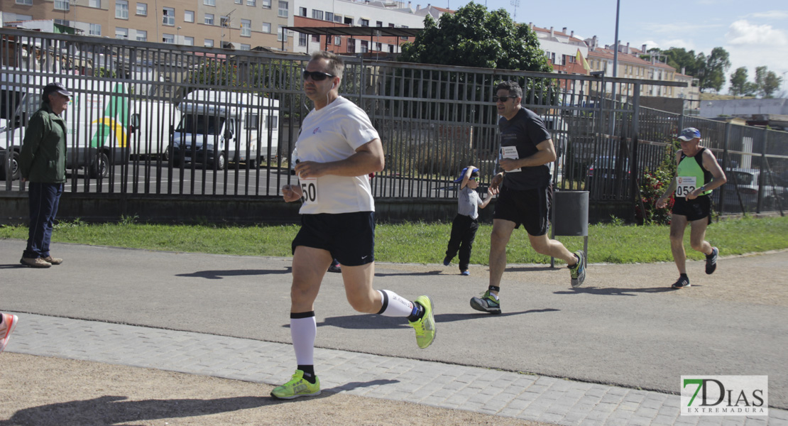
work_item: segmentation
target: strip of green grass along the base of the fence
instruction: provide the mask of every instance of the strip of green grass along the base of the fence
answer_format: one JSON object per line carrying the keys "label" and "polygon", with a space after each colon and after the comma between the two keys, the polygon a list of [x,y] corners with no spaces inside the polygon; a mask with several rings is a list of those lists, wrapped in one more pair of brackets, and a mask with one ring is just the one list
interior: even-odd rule
{"label": "strip of green grass along the base of the fence", "polygon": [[[452,224],[378,224],[375,239],[377,261],[440,263]],[[289,257],[297,225],[162,225],[141,224],[124,218],[115,224],[85,224],[80,220],[55,226],[52,241],[97,246],[121,246],[213,254]],[[482,224],[476,235],[471,263],[487,265],[492,225]],[[685,246],[690,259],[702,254]],[[24,226],[0,226],[0,239],[27,239]],[[724,256],[788,248],[788,217],[745,217],[712,223],[706,232]],[[556,237],[571,251],[581,250],[582,237]],[[24,247],[20,247],[22,250]],[[526,232],[515,230],[507,246],[509,263],[549,263],[550,258],[530,248]],[[672,261],[667,226],[596,224],[589,226],[589,261],[593,263],[648,263]]]}

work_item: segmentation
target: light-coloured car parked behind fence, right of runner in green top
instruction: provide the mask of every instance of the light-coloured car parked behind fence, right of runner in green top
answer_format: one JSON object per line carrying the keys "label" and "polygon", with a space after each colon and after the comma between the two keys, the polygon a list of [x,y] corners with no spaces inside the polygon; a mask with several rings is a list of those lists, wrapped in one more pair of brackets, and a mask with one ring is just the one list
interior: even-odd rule
{"label": "light-coloured car parked behind fence, right of runner in green top", "polygon": [[[742,205],[739,204],[739,196],[742,198],[742,204],[745,211],[753,212],[758,206],[758,185],[760,184],[760,170],[759,169],[727,169],[725,171],[727,183],[722,187],[725,193],[723,199],[724,205],[722,206],[723,212],[739,213],[742,211]],[[778,176],[771,173],[765,176],[764,182],[764,200],[761,208],[765,211],[776,210],[778,201],[783,209],[786,206],[786,188],[780,186],[782,180]],[[775,185],[772,185],[772,181]],[[738,194],[737,194],[738,192]],[[714,199],[719,206],[719,196],[715,195]]]}

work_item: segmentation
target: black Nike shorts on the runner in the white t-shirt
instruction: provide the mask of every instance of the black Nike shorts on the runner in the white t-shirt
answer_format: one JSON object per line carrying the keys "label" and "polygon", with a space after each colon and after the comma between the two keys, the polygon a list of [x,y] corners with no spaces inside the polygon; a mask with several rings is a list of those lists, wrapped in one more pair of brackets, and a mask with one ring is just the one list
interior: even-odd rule
{"label": "black Nike shorts on the runner in the white t-shirt", "polygon": [[342,265],[359,266],[375,261],[375,213],[302,214],[296,246],[328,250]]}

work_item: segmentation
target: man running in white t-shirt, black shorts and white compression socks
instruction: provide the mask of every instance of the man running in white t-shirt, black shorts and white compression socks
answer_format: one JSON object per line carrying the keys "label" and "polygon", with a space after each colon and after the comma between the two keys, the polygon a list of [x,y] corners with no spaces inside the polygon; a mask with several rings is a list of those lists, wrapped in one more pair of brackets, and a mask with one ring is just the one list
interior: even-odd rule
{"label": "man running in white t-shirt, black shorts and white compression socks", "polygon": [[372,288],[375,274],[375,205],[367,176],[384,166],[383,145],[363,109],[339,95],[344,62],[316,52],[303,71],[303,91],[314,109],[296,141],[299,184],[284,185],[286,202],[301,200],[301,229],[292,242],[290,334],[298,368],[292,380],[275,387],[275,398],[320,394],[314,373],[314,299],[333,257],[342,265],[348,302],[359,312],[407,317],[416,343],[435,339],[433,302],[411,302],[393,291]]}

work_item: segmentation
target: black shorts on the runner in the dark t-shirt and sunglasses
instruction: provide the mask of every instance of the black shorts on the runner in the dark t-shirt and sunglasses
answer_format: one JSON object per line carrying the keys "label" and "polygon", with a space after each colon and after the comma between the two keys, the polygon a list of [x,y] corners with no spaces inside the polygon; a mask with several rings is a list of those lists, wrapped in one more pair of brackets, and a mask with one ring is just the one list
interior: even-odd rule
{"label": "black shorts on the runner in the dark t-shirt and sunglasses", "polygon": [[528,235],[545,235],[550,228],[551,204],[552,185],[525,191],[501,187],[492,218],[515,222],[515,228],[522,224]]}

